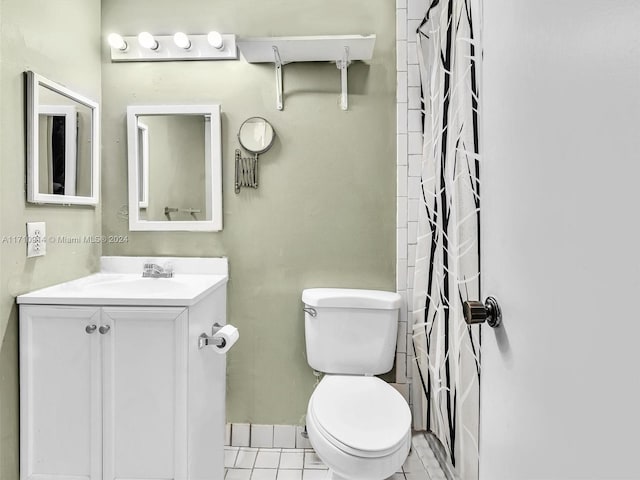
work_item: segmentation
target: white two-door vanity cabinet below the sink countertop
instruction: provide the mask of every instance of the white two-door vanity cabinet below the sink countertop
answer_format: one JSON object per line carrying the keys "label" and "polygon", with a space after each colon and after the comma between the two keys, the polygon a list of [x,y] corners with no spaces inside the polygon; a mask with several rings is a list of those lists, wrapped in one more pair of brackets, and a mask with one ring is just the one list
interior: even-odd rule
{"label": "white two-door vanity cabinet below the sink countertop", "polygon": [[209,290],[162,306],[19,297],[21,480],[223,477],[226,356],[198,337],[225,323],[226,277]]}

